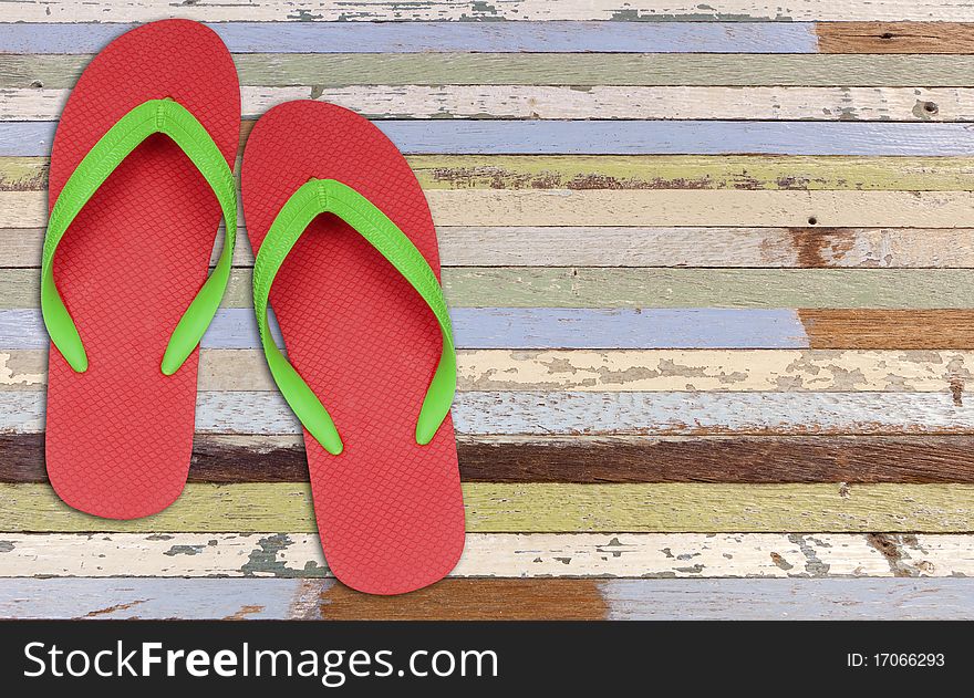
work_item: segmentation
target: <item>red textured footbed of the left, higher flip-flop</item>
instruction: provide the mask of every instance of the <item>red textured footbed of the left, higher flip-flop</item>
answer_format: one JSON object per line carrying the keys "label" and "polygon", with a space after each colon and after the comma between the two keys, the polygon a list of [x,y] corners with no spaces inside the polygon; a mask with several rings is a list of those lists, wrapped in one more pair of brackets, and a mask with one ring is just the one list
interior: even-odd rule
{"label": "red textured footbed of the left, higher flip-flop", "polygon": [[[240,137],[232,59],[206,27],[166,20],[120,37],[81,75],[54,136],[49,204],[118,118],[163,97],[189,110],[232,167]],[[75,509],[132,519],[165,509],[183,491],[198,350],[173,376],[159,363],[206,281],[219,222],[206,180],[178,146],[155,135],[64,235],[54,280],[90,367],[74,373],[51,347],[46,462],[58,494]]]}

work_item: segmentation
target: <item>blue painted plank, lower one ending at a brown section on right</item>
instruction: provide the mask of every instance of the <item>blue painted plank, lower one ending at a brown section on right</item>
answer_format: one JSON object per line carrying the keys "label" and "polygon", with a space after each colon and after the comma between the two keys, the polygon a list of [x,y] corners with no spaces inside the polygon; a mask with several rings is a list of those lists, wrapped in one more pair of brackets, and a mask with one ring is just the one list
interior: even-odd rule
{"label": "blue painted plank, lower one ending at a brown section on right", "polygon": [[[450,316],[460,348],[809,346],[797,312],[786,309],[454,308]],[[203,345],[213,348],[260,346],[253,311],[220,309],[203,337]],[[0,351],[46,346],[40,311],[0,311]]]}

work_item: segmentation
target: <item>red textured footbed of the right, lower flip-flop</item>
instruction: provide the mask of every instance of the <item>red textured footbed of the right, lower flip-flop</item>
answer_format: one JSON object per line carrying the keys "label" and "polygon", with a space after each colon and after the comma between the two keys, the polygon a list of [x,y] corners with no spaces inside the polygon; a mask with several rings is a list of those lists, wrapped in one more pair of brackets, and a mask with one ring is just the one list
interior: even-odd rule
{"label": "red textured footbed of the right, lower flip-flop", "polygon": [[[259,250],[284,201],[308,179],[338,179],[382,209],[436,274],[436,231],[405,158],[371,123],[310,101],[268,112],[244,154],[241,194]],[[332,456],[307,431],[314,511],[329,567],[353,588],[396,594],[456,564],[464,509],[453,421],[416,444],[416,417],[443,340],[419,294],[358,232],[315,218],[270,292],[294,368],[344,442]]]}

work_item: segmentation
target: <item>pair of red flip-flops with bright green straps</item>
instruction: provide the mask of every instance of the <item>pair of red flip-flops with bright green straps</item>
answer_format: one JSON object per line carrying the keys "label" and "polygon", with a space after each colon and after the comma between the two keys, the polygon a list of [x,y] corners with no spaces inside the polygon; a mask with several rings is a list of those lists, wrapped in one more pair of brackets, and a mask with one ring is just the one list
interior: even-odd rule
{"label": "pair of red flip-flops with bright green straps", "polygon": [[[231,271],[239,143],[234,62],[196,22],[116,39],[64,107],[41,305],[48,472],[75,509],[133,519],[183,491],[198,346]],[[435,582],[460,555],[464,510],[455,353],[423,191],[369,121],[311,101],[260,118],[240,179],[259,345],[304,428],[329,566],[370,593]]]}

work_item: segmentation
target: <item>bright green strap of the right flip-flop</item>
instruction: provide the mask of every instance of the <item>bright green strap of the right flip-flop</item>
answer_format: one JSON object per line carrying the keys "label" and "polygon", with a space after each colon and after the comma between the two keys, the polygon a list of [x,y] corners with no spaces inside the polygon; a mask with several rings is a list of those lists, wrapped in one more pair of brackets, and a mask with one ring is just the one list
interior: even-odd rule
{"label": "bright green strap of the right flip-flop", "polygon": [[330,454],[342,452],[342,439],[328,410],[270,336],[267,302],[274,277],[308,225],[319,213],[334,213],[354,228],[423,296],[443,332],[443,354],[416,423],[416,442],[428,444],[449,413],[456,392],[456,350],[443,289],[412,240],[369,199],[334,179],[311,179],[284,204],[267,232],[253,263],[253,310],[271,374],[304,428]]}

